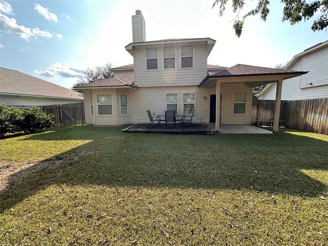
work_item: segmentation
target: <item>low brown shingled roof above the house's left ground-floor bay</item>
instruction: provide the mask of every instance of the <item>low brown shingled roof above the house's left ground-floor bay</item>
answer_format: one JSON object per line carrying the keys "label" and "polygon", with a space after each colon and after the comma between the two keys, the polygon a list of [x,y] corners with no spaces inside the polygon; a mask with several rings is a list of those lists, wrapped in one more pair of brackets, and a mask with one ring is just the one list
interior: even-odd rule
{"label": "low brown shingled roof above the house's left ground-floor bay", "polygon": [[81,88],[94,88],[94,87],[129,87],[134,88],[134,74],[125,75],[119,78],[111,77],[105,78],[98,81],[94,81],[88,84],[79,85],[74,88],[81,89]]}

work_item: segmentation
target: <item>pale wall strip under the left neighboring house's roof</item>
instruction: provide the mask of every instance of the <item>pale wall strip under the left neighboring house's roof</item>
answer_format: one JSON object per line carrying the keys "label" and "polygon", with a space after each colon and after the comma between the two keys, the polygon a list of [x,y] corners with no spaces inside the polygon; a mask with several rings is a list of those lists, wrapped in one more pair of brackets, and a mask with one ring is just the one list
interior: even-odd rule
{"label": "pale wall strip under the left neighboring house's roof", "polygon": [[81,103],[83,100],[37,97],[37,96],[14,96],[0,95],[0,104],[5,103],[9,106],[44,106],[53,104],[72,104]]}

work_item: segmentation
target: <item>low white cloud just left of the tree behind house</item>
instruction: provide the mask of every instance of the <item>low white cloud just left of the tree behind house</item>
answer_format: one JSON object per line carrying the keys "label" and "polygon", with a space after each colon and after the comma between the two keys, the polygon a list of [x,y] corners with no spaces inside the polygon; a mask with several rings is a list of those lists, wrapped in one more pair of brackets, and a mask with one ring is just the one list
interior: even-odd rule
{"label": "low white cloud just left of the tree behind house", "polygon": [[50,68],[46,70],[34,70],[34,73],[36,74],[54,78],[56,78],[58,75],[61,77],[77,78],[83,75],[82,72],[82,70],[73,68],[69,64],[61,65],[60,62],[51,65]]}

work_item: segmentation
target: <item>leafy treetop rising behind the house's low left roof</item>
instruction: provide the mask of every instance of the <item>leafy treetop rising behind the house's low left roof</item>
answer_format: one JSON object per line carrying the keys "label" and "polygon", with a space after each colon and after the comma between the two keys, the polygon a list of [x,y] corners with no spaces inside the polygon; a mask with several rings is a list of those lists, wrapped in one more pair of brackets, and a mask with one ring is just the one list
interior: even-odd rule
{"label": "leafy treetop rising behind the house's low left roof", "polygon": [[112,64],[107,63],[105,66],[96,67],[95,69],[87,68],[83,71],[83,77],[79,77],[73,87],[85,85],[94,81],[113,77],[110,71]]}

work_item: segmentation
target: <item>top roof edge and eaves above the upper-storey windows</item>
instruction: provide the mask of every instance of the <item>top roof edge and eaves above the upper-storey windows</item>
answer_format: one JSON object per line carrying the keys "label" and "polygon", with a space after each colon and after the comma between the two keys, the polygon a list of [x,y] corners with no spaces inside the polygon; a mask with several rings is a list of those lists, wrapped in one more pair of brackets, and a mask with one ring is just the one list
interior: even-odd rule
{"label": "top roof edge and eaves above the upper-storey windows", "polygon": [[138,43],[130,43],[128,44],[125,49],[133,55],[133,48],[135,46],[145,46],[145,45],[163,45],[163,44],[178,44],[178,43],[195,43],[195,42],[206,42],[208,46],[208,55],[211,53],[214,45],[215,40],[209,37],[206,38],[170,38],[170,39],[161,39],[161,40],[154,40],[148,42],[138,42]]}

